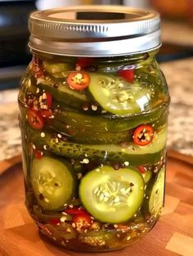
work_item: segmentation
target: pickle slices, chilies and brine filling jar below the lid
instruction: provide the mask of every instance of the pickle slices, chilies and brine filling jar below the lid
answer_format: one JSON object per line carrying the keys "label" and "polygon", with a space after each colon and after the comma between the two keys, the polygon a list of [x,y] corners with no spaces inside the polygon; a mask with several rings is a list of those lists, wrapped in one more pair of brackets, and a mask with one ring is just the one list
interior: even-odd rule
{"label": "pickle slices, chilies and brine filling jar below the lid", "polygon": [[20,88],[26,204],[39,230],[70,249],[129,245],[164,201],[164,78],[152,61],[105,65],[34,57]]}

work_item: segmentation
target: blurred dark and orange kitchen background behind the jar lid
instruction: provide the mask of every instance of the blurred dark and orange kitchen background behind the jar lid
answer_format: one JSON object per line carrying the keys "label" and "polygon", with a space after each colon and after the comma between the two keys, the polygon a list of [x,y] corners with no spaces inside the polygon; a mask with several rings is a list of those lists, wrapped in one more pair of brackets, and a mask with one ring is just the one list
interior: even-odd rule
{"label": "blurred dark and orange kitchen background behind the jar lid", "polygon": [[83,4],[154,8],[163,19],[163,47],[158,61],[193,55],[192,0],[0,0],[0,90],[17,87],[29,63],[29,13],[37,9]]}

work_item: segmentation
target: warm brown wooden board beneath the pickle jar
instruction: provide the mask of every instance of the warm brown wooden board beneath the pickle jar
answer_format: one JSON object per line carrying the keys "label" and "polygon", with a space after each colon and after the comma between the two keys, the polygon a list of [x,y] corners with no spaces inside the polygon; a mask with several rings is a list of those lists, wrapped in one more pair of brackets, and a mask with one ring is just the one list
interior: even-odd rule
{"label": "warm brown wooden board beneath the pickle jar", "polygon": [[[159,222],[143,239],[112,256],[193,255],[193,158],[168,152],[165,207]],[[40,239],[25,209],[20,157],[0,163],[0,255],[103,256],[83,254]]]}

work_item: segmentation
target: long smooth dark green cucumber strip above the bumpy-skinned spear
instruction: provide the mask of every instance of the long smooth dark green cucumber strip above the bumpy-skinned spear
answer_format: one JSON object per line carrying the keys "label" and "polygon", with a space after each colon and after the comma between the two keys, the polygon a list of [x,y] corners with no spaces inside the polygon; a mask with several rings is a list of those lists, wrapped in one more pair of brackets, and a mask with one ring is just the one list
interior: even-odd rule
{"label": "long smooth dark green cucumber strip above the bumpy-skinned spear", "polygon": [[72,129],[79,128],[80,130],[82,128],[86,131],[92,130],[96,132],[123,132],[135,128],[139,124],[148,124],[156,120],[159,121],[159,119],[160,122],[163,119],[165,123],[167,115],[167,106],[163,105],[142,115],[125,115],[120,117],[116,115],[83,115],[75,111],[65,110],[60,111],[58,114],[56,113],[55,119],[57,122],[70,125]]}

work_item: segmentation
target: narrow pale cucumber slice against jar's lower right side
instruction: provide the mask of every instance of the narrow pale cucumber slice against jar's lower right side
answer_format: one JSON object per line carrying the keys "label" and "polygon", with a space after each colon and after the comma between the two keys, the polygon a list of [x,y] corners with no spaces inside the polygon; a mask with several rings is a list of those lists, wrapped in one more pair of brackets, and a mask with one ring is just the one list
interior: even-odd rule
{"label": "narrow pale cucumber slice against jar's lower right side", "polygon": [[165,169],[161,168],[155,184],[150,190],[149,211],[155,218],[158,218],[164,204],[164,177]]}

